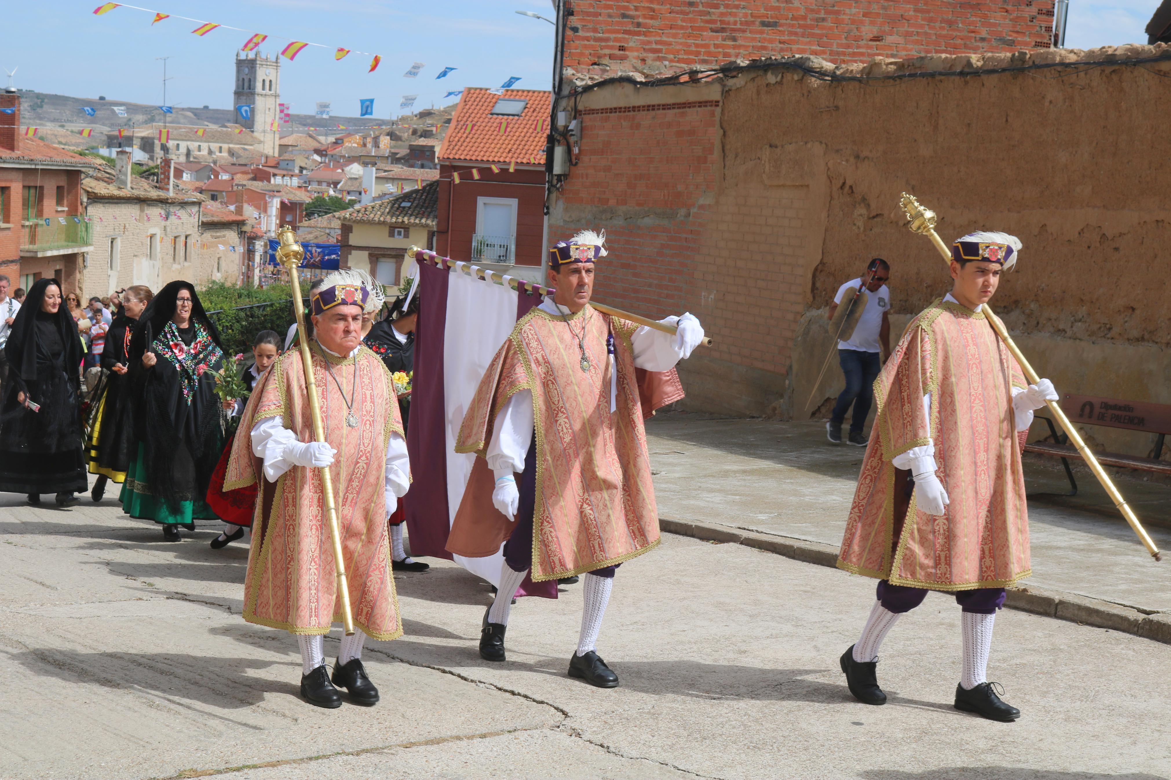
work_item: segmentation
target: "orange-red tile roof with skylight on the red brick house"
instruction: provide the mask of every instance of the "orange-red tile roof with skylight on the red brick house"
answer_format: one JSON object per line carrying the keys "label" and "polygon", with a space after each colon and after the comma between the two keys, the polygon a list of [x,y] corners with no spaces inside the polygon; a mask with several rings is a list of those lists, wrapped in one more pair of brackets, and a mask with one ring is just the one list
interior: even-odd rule
{"label": "orange-red tile roof with skylight on the red brick house", "polygon": [[[532,163],[545,165],[545,138],[549,133],[550,92],[506,89],[465,89],[439,147],[438,159],[448,163]],[[528,101],[519,117],[492,115],[498,99]]]}

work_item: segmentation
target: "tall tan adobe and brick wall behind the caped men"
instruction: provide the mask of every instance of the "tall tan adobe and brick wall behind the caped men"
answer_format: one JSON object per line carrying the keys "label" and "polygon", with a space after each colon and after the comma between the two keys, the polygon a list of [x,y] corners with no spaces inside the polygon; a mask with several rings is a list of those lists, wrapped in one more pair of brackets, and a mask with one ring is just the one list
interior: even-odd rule
{"label": "tall tan adobe and brick wall behind the caped men", "polygon": [[[950,288],[930,242],[903,227],[905,189],[940,215],[946,241],[978,228],[1022,240],[1019,270],[993,304],[1028,334],[1022,346],[1059,389],[1171,403],[1159,264],[1171,241],[1171,181],[1160,175],[1171,137],[1158,108],[1171,64],[971,73],[1166,53],[1135,46],[826,71],[927,74],[904,81],[771,69],[669,88],[603,85],[578,99],[580,165],[553,200],[550,241],[605,228],[600,299],[700,317],[717,343],[684,364],[691,408],[802,416],[795,406],[828,347],[802,318],[868,258],[892,264],[895,315]],[[971,75],[938,75],[960,69]]]}

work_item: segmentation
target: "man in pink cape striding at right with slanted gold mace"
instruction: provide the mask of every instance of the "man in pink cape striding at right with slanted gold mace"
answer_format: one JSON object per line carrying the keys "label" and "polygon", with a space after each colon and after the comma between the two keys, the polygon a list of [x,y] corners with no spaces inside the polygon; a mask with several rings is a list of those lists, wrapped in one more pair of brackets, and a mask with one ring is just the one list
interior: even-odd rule
{"label": "man in pink cape striding at right with slanted gold mace", "polygon": [[952,291],[915,319],[875,381],[878,415],[837,565],[878,579],[862,637],[841,657],[850,692],[884,704],[878,647],[927,591],[956,594],[964,660],[956,709],[992,720],[1020,710],[985,671],[1005,588],[1029,575],[1021,446],[1033,410],[1057,399],[1027,385],[982,311],[1021,243],[971,233],[952,244]]}

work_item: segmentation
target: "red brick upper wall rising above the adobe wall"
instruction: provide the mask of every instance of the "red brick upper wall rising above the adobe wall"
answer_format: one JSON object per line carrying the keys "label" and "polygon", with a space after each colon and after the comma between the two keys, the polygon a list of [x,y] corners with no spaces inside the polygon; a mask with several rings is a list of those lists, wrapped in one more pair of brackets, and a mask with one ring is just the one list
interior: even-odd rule
{"label": "red brick upper wall rising above the adobe wall", "polygon": [[735,58],[874,56],[1049,48],[1053,0],[571,0],[566,68],[664,75]]}

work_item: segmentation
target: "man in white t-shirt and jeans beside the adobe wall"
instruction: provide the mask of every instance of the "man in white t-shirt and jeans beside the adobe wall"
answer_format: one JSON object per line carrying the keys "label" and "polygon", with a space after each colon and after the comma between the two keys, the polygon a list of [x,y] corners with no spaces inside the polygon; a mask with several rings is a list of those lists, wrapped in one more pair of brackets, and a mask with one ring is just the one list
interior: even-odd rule
{"label": "man in white t-shirt and jeans beside the adobe wall", "polygon": [[837,343],[837,358],[845,374],[845,389],[837,396],[834,413],[826,423],[826,435],[835,444],[842,443],[842,423],[850,405],[850,435],[847,440],[855,447],[865,447],[867,437],[862,428],[870,414],[874,402],[874,382],[882,371],[882,364],[890,354],[890,290],[886,279],[890,278],[890,264],[882,257],[875,257],[867,265],[867,272],[851,279],[837,289],[834,303],[829,308],[828,318],[833,319],[840,305],[849,305],[857,295],[858,287],[865,283],[867,308],[862,311],[854,333],[848,341]]}

